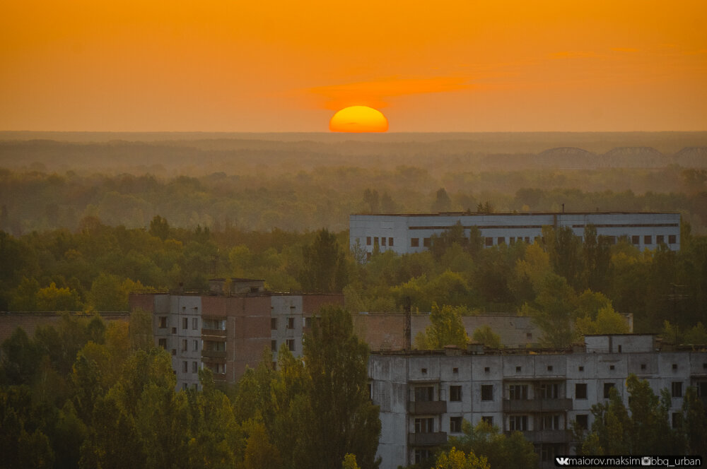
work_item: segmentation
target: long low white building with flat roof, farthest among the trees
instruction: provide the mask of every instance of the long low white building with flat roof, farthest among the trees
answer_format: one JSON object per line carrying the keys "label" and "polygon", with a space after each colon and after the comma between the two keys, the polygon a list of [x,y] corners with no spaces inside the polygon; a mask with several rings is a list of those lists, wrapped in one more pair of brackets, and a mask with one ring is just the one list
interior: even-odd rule
{"label": "long low white building with flat roof, farthest among the trees", "polygon": [[645,212],[581,212],[581,213],[430,213],[350,215],[349,244],[358,243],[368,256],[375,246],[380,251],[398,254],[421,252],[431,246],[432,235],[440,235],[460,222],[464,234],[477,227],[486,247],[515,242],[532,243],[542,235],[542,227],[569,227],[578,237],[587,225],[597,235],[615,243],[626,237],[638,249],[655,249],[665,244],[680,249],[680,214]]}

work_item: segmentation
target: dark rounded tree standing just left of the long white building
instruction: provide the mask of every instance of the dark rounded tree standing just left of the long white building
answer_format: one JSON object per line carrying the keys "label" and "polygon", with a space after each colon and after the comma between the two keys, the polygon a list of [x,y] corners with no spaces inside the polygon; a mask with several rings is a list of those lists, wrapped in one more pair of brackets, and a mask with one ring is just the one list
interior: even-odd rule
{"label": "dark rounded tree standing just left of the long white building", "polygon": [[299,276],[303,288],[321,292],[344,289],[348,278],[346,256],[334,233],[318,231],[315,241],[303,248],[303,254],[304,265]]}

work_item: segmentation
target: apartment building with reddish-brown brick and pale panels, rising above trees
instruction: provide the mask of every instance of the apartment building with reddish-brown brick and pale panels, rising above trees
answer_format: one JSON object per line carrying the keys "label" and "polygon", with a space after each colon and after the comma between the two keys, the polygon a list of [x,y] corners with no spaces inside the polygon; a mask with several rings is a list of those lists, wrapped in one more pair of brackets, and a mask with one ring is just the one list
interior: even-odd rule
{"label": "apartment building with reddish-brown brick and pale panels, rising above trees", "polygon": [[131,310],[153,314],[155,345],[172,354],[177,388],[199,388],[202,367],[216,381],[235,383],[246,367],[257,366],[266,348],[276,355],[285,344],[301,355],[312,316],[325,304],[344,304],[341,294],[269,292],[262,280],[214,279],[210,287],[212,295],[130,295]]}

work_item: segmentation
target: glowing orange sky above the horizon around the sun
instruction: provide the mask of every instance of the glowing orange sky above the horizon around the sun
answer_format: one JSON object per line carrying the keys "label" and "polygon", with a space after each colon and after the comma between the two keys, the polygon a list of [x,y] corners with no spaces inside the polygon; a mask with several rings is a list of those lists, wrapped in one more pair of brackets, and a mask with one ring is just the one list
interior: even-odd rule
{"label": "glowing orange sky above the horizon around the sun", "polygon": [[0,0],[0,130],[707,130],[707,1]]}

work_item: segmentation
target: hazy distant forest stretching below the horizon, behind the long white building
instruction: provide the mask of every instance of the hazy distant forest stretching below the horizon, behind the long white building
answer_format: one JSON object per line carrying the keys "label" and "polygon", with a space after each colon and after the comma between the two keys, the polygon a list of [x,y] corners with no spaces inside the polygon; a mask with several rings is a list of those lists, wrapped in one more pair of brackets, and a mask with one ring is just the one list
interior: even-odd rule
{"label": "hazy distant forest stretching below the horizon, behind the long white building", "polygon": [[[707,133],[0,133],[0,230],[87,216],[307,232],[350,213],[666,210],[707,232]],[[443,189],[443,190],[442,190]],[[440,191],[441,190],[441,191]]]}

